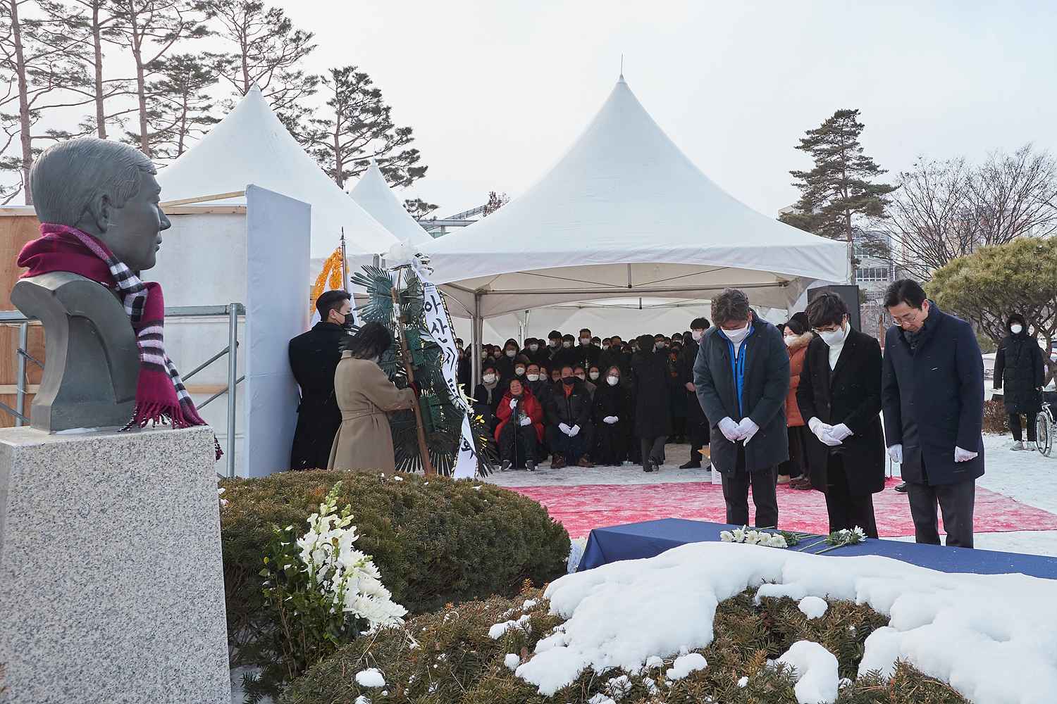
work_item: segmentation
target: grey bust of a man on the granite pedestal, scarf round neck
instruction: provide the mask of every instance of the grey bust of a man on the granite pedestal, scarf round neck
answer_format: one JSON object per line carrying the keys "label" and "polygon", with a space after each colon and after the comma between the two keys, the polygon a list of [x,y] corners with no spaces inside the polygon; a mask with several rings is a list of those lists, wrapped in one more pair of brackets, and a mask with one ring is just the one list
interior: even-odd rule
{"label": "grey bust of a man on the granite pedestal, scarf round neck", "polygon": [[137,344],[126,293],[114,284],[125,274],[66,233],[76,230],[103,243],[138,281],[140,271],[154,266],[160,233],[170,226],[155,174],[134,148],[87,137],[49,148],[33,166],[30,187],[44,235],[23,249],[19,265],[30,271],[11,293],[19,310],[44,325],[47,358],[33,427],[124,426],[135,413],[147,348],[142,332]]}

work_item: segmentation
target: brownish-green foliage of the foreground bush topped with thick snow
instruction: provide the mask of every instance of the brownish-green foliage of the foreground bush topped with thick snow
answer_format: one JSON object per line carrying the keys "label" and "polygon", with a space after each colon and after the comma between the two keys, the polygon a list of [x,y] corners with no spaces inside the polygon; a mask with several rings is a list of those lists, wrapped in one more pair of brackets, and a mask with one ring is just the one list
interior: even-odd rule
{"label": "brownish-green foliage of the foreground bush topped with thick snow", "polygon": [[[364,697],[388,704],[796,704],[802,673],[777,661],[795,643],[810,641],[833,653],[839,676],[850,681],[842,683],[836,704],[965,704],[949,686],[902,662],[890,680],[876,673],[856,677],[864,642],[888,623],[869,607],[834,601],[821,617],[809,619],[794,600],[764,597],[756,604],[754,596],[749,590],[719,605],[715,640],[706,648],[663,653],[638,670],[586,670],[572,684],[543,696],[513,670],[532,661],[541,640],[562,633],[565,622],[550,613],[542,592],[525,589],[515,600],[448,607],[355,641],[309,670],[283,701],[331,704]],[[507,622],[518,627],[497,628]],[[368,666],[384,677],[385,698],[352,677]],[[673,680],[670,670],[685,677]]]}

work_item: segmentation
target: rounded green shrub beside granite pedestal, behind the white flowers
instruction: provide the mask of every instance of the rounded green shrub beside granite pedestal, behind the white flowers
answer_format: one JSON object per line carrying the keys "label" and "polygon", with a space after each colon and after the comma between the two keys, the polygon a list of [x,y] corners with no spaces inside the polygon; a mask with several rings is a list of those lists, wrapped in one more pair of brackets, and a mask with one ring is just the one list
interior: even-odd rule
{"label": "rounded green shrub beside granite pedestal, behind the white flowers", "polygon": [[[301,535],[338,481],[359,539],[393,601],[411,614],[564,574],[569,534],[536,501],[483,482],[365,472],[282,472],[226,479],[221,509],[224,597],[233,666],[267,667],[252,647],[275,634],[277,614],[262,593],[263,557],[274,528]],[[249,647],[247,647],[249,646]]]}

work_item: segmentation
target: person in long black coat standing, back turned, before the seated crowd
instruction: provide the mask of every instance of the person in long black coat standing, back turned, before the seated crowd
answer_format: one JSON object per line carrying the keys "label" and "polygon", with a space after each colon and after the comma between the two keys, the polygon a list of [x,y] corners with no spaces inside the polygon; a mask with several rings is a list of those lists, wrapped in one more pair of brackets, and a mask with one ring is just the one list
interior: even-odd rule
{"label": "person in long black coat standing, back turned, before the seated crowd", "polygon": [[654,472],[664,463],[664,443],[671,435],[671,400],[668,355],[654,351],[654,339],[638,338],[638,351],[631,358],[635,394],[635,435],[643,451],[643,471]]}

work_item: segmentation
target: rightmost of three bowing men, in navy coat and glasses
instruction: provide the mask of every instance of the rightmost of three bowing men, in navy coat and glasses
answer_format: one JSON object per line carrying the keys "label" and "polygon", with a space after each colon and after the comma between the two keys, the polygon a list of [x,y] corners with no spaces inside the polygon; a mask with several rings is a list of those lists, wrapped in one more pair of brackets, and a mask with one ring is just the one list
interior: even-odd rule
{"label": "rightmost of three bowing men, in navy coat and glasses", "polygon": [[939,502],[947,545],[971,548],[976,480],[984,473],[977,336],[909,279],[888,287],[885,307],[896,322],[885,336],[885,435],[903,465],[916,540],[940,545]]}

